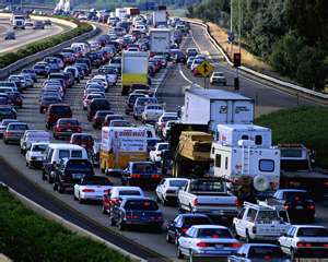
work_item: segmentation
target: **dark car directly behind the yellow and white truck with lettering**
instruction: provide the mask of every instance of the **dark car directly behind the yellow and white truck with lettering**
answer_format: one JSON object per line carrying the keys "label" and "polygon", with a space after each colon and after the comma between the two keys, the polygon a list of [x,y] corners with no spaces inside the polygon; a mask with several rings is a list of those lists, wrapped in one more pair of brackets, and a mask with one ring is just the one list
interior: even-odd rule
{"label": "dark car directly behind the yellow and white truck with lettering", "polygon": [[121,184],[156,187],[162,178],[154,163],[130,162],[122,172]]}

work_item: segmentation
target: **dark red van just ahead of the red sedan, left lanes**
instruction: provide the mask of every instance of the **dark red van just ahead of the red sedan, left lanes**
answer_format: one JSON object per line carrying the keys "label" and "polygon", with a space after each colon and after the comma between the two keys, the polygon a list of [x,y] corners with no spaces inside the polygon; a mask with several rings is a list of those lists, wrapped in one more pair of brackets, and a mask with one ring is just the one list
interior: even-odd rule
{"label": "dark red van just ahead of the red sedan, left lanes", "polygon": [[46,128],[50,129],[59,118],[71,118],[72,110],[67,104],[51,104],[46,112]]}

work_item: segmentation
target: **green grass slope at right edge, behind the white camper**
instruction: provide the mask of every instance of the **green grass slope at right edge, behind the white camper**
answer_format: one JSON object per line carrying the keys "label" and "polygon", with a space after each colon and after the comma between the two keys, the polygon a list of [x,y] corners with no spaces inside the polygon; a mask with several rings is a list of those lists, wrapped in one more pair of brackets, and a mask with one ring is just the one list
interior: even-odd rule
{"label": "green grass slope at right edge, behind the white camper", "polygon": [[316,165],[328,169],[328,108],[284,109],[256,119],[272,129],[273,143],[302,143],[316,151]]}

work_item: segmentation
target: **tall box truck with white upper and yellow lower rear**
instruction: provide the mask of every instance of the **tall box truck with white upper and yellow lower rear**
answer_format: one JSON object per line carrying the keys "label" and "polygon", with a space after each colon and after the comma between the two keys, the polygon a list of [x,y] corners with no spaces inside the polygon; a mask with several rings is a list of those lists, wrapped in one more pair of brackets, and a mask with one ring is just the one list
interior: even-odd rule
{"label": "tall box truck with white upper and yellow lower rear", "polygon": [[149,52],[124,51],[121,62],[121,94],[128,95],[133,84],[148,85]]}

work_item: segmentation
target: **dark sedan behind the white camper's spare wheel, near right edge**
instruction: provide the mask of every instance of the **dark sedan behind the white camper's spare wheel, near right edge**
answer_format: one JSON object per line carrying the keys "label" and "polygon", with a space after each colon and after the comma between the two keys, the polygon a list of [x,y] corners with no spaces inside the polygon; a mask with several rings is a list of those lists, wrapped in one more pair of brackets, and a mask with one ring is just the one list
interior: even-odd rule
{"label": "dark sedan behind the white camper's spare wheel, near right edge", "polygon": [[284,206],[291,221],[315,219],[316,205],[306,190],[280,189],[276,191],[273,198]]}

